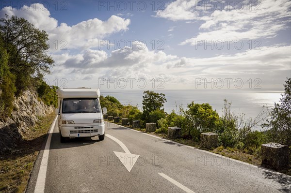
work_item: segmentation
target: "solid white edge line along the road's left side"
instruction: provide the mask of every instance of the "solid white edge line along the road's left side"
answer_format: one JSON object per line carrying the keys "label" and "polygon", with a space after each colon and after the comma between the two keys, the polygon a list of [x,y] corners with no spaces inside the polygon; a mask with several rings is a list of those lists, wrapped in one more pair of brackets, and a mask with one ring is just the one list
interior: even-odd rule
{"label": "solid white edge line along the road's left side", "polygon": [[[43,156],[41,158],[41,163],[40,163],[40,168],[39,168],[38,175],[37,175],[34,193],[44,193],[45,192],[47,166],[49,163],[49,146],[50,146],[50,141],[51,141],[51,135],[52,135],[53,129],[55,127],[57,118],[58,118],[58,116],[54,119],[54,121],[51,124],[50,129],[49,129],[49,137],[48,137],[48,140],[46,143],[46,147],[44,149]],[[47,159],[47,163],[45,163],[45,164],[42,163],[44,158]]]}

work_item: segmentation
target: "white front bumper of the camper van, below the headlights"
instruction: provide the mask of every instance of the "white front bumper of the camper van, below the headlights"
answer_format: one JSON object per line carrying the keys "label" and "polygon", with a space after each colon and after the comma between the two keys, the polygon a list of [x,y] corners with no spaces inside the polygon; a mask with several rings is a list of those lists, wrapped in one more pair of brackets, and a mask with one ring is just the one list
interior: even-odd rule
{"label": "white front bumper of the camper van, below the headlights", "polygon": [[103,135],[105,132],[105,124],[88,125],[88,126],[59,126],[63,137],[93,137]]}

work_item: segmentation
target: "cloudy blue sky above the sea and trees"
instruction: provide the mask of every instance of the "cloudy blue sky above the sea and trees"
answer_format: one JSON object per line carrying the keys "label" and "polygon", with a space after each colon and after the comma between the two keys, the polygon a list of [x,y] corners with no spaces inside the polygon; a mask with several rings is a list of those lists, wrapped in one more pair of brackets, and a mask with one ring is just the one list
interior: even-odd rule
{"label": "cloudy blue sky above the sea and trees", "polygon": [[283,89],[290,0],[1,0],[49,34],[49,85]]}

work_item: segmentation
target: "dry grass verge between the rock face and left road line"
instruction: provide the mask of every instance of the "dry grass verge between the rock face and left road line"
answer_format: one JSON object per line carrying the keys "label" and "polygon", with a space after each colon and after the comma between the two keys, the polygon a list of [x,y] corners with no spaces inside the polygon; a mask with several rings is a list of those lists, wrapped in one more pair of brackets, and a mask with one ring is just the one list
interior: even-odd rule
{"label": "dry grass verge between the rock face and left road line", "polygon": [[24,136],[10,154],[0,157],[0,193],[23,193],[26,189],[33,164],[46,138],[54,113],[40,121]]}

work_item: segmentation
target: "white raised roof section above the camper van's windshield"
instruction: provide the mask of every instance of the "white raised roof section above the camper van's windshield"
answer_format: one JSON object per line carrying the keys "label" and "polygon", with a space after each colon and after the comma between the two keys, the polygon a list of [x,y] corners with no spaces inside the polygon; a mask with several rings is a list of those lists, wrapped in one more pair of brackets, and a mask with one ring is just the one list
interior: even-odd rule
{"label": "white raised roof section above the camper van's windshield", "polygon": [[58,89],[59,98],[99,98],[99,89]]}

